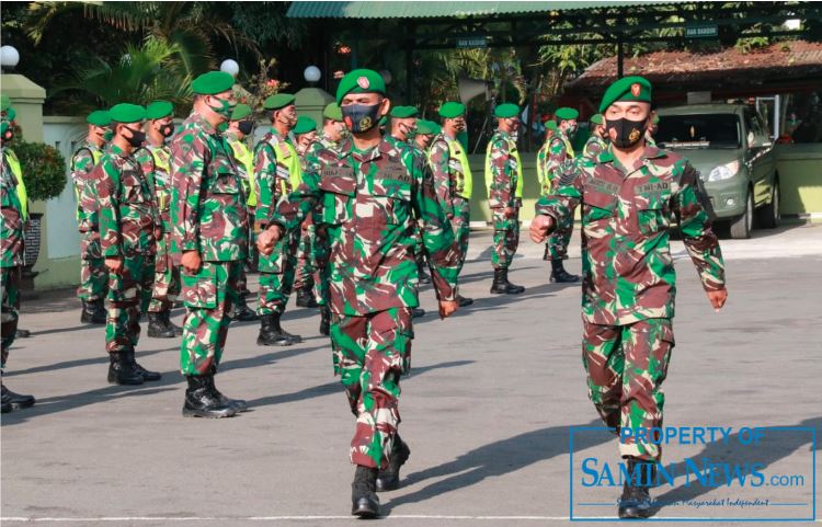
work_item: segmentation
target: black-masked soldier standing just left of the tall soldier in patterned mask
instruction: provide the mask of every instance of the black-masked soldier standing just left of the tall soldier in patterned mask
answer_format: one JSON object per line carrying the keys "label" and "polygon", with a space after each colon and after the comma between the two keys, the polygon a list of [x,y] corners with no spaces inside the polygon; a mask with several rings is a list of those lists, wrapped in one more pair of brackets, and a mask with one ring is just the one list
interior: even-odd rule
{"label": "black-masked soldier standing just left of the tall soldier in patterned mask", "polygon": [[159,380],[135,360],[140,336],[140,302],[153,285],[153,262],[162,221],[148,179],[133,152],[142,145],[146,108],[117,104],[109,114],[114,139],[91,174],[99,182],[100,247],[109,267],[105,351],[109,382],[141,385]]}

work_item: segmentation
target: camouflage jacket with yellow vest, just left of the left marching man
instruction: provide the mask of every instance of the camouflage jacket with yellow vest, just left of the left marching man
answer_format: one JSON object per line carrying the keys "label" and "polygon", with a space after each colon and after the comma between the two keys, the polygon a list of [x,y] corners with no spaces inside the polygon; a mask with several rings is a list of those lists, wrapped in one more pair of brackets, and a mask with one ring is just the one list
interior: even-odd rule
{"label": "camouflage jacket with yellow vest, just left of the left marching man", "polygon": [[[258,192],[254,219],[262,228],[271,221],[277,202],[295,190],[288,165],[289,158],[294,153],[285,145],[286,141],[288,138],[283,137],[272,127],[254,147]],[[296,148],[294,150],[296,151]]]}

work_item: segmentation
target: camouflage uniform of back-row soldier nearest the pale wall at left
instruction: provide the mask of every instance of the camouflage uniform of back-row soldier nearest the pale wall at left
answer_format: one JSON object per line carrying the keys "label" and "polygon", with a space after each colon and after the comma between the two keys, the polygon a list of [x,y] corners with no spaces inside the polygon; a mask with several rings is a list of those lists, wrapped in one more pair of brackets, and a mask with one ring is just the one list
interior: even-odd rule
{"label": "camouflage uniform of back-row soldier nearest the pale wall at left", "polygon": [[77,227],[80,231],[80,286],[77,296],[85,301],[105,298],[109,287],[109,270],[100,249],[100,182],[92,176],[94,156],[102,157],[102,153],[100,147],[87,140],[71,157],[71,182],[77,197]]}

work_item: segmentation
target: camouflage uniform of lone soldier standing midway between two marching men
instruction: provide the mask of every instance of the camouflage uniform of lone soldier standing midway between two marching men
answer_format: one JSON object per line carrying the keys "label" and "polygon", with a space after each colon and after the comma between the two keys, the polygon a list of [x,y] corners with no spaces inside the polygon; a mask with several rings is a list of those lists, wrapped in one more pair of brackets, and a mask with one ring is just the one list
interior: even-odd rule
{"label": "camouflage uniform of lone soldier standing midway between two marching men", "polygon": [[[494,227],[493,268],[509,268],[520,245],[520,207],[522,202],[516,197],[516,161],[509,150],[511,135],[496,131],[491,137],[491,173],[493,179],[489,188],[488,203],[491,207]],[[505,208],[515,209],[513,218],[505,217]]]}

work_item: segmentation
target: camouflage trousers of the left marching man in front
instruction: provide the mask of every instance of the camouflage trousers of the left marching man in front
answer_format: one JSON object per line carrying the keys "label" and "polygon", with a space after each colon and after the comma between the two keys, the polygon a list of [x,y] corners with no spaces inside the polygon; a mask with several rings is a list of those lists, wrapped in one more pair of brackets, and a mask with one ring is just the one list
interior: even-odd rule
{"label": "camouflage trousers of the left marching man in front", "polygon": [[411,365],[411,309],[391,308],[362,317],[334,313],[331,342],[356,415],[351,462],[385,468],[400,424],[400,375]]}

